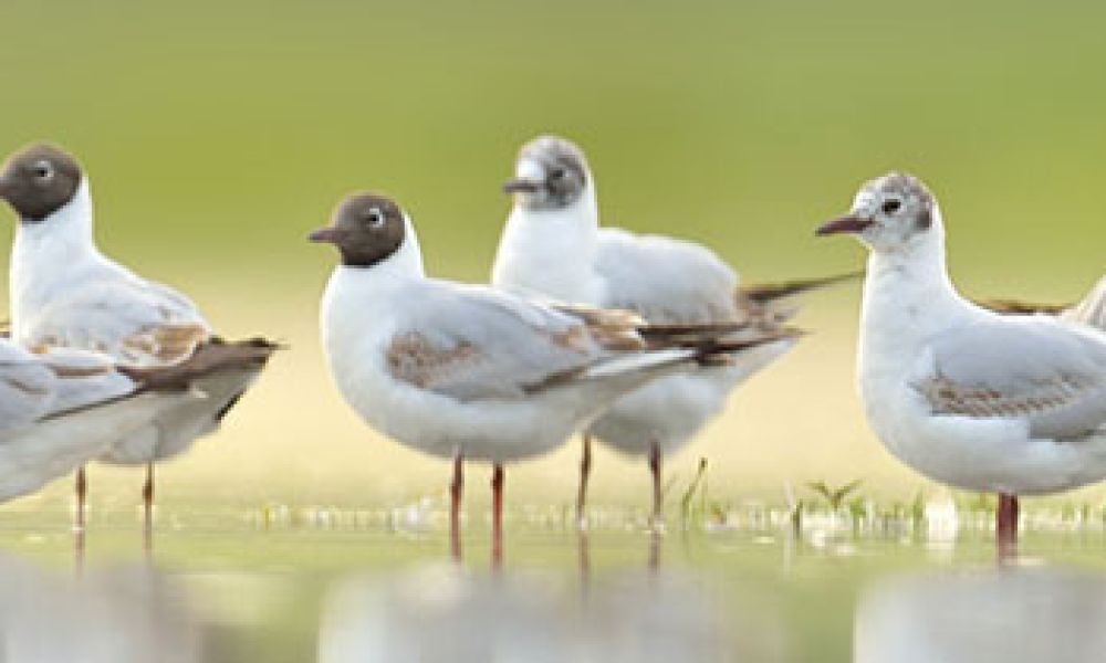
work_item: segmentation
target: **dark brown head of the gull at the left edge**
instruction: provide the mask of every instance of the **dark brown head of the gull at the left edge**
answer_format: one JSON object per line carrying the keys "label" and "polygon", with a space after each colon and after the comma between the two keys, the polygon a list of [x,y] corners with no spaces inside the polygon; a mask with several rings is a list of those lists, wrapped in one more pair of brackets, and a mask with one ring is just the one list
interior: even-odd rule
{"label": "dark brown head of the gull at the left edge", "polygon": [[23,223],[38,223],[76,196],[84,179],[81,164],[65,150],[40,143],[8,158],[0,169],[0,199]]}

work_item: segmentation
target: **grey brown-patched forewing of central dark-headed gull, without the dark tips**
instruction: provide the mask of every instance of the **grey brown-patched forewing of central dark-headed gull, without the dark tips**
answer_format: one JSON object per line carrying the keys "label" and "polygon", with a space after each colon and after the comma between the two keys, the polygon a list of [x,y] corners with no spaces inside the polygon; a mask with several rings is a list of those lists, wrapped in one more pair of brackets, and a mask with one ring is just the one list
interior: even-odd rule
{"label": "grey brown-patched forewing of central dark-headed gull, without the dark tips", "polygon": [[397,379],[462,400],[520,398],[603,357],[571,315],[491,288],[434,283],[388,348]]}

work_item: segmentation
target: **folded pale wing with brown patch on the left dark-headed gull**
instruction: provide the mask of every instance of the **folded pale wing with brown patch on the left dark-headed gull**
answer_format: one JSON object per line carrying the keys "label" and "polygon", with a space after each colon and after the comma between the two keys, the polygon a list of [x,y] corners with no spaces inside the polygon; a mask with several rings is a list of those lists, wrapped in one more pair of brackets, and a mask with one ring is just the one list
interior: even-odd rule
{"label": "folded pale wing with brown patch on the left dark-headed gull", "polygon": [[82,283],[19,320],[17,332],[28,347],[82,348],[134,366],[180,361],[210,335],[184,295],[137,277]]}

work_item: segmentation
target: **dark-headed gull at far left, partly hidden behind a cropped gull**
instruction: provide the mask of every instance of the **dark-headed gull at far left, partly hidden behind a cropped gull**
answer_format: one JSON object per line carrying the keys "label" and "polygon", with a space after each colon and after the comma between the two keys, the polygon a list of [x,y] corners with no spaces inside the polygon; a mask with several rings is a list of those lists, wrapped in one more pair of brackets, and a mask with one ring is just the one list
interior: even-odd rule
{"label": "dark-headed gull at far left, partly hidden behind a cropped gull", "polygon": [[[56,146],[33,145],[0,171],[0,199],[19,215],[11,252],[12,339],[25,347],[73,347],[106,354],[132,367],[171,366],[219,339],[196,306],[175,290],[146,281],[100,252],[93,239],[88,178]],[[260,339],[243,348],[272,346]],[[146,530],[153,518],[154,462],[187,450],[213,432],[264,362],[230,371],[208,385],[207,398],[167,411],[121,438],[100,460],[145,465]],[[83,525],[86,482],[77,471],[77,518]]]}

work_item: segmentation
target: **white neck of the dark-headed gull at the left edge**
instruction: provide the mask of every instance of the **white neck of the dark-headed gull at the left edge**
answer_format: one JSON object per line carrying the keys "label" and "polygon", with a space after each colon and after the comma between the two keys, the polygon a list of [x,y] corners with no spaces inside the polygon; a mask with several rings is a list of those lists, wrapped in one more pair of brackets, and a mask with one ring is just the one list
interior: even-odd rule
{"label": "white neck of the dark-headed gull at the left edge", "polygon": [[92,194],[88,180],[64,207],[42,221],[21,221],[12,244],[9,297],[12,327],[48,305],[72,280],[103,265],[92,230]]}

